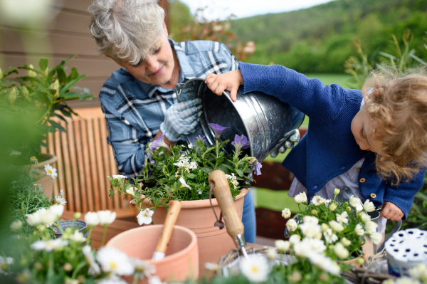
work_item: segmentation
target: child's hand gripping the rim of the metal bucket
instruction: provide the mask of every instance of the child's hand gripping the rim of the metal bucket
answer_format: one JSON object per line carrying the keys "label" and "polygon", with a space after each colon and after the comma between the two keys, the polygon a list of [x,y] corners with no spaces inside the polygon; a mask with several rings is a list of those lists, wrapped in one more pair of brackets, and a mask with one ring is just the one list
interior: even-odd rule
{"label": "child's hand gripping the rim of the metal bucket", "polygon": [[231,100],[236,102],[237,90],[243,84],[243,77],[240,70],[233,70],[221,75],[212,73],[206,76],[205,83],[216,95],[222,95],[224,90],[229,90]]}

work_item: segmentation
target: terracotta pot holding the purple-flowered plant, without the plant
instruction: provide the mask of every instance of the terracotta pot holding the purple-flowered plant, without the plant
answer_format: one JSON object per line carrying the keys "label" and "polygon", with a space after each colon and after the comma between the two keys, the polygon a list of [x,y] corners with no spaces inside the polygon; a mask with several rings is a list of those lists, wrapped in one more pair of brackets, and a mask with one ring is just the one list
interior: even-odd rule
{"label": "terracotta pot holding the purple-flowered plant, without the plant", "polygon": [[[242,189],[241,194],[236,196],[236,201],[234,202],[234,206],[236,206],[241,217],[244,196],[248,194],[248,191],[249,189]],[[147,199],[144,202],[146,204],[149,203]],[[236,245],[231,236],[228,235],[226,228],[220,230],[214,226],[216,219],[209,199],[181,201],[181,205],[181,212],[178,219],[176,219],[176,225],[184,226],[196,233],[199,241],[199,275],[203,276],[205,274],[205,263],[218,263],[219,258],[227,254],[231,249],[236,248]],[[212,205],[219,218],[221,209],[219,209],[218,201],[212,199]],[[154,224],[164,223],[164,219],[166,219],[165,207],[157,207],[152,219]]]}

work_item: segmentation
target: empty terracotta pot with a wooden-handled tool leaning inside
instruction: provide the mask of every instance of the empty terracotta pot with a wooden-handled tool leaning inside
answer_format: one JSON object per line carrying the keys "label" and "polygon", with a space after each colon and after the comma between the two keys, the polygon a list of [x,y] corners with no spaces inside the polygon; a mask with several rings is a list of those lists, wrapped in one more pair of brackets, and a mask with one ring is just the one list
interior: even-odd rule
{"label": "empty terracotta pot with a wooden-handled tool leaning inside", "polygon": [[[157,241],[162,234],[163,225],[143,226],[119,233],[105,246],[114,246],[132,258],[155,265],[157,277],[165,282],[184,282],[199,277],[199,250],[196,234],[188,228],[174,226],[166,256],[162,261],[152,261]],[[127,283],[133,277],[125,278]],[[147,279],[139,280],[139,284],[147,283]]]}

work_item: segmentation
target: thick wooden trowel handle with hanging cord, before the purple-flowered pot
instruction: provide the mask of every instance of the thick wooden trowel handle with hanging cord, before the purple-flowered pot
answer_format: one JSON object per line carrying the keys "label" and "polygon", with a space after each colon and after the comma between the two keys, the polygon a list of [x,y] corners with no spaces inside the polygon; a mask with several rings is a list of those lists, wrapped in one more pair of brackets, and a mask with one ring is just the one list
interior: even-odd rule
{"label": "thick wooden trowel handle with hanging cord, before the purple-flowered pot", "polygon": [[226,174],[223,171],[216,169],[209,174],[209,184],[214,184],[214,194],[218,200],[219,208],[221,208],[228,235],[235,238],[238,234],[245,232],[240,216],[238,216],[237,209],[234,206],[233,196],[231,196],[230,186]]}

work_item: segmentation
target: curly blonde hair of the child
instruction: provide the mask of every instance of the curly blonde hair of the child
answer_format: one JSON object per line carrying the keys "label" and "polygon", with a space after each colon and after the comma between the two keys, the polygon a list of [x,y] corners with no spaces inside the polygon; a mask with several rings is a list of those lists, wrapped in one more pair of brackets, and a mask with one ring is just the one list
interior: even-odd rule
{"label": "curly blonde hair of the child", "polygon": [[367,111],[382,142],[376,170],[393,184],[408,182],[427,163],[427,76],[374,71],[362,89]]}

